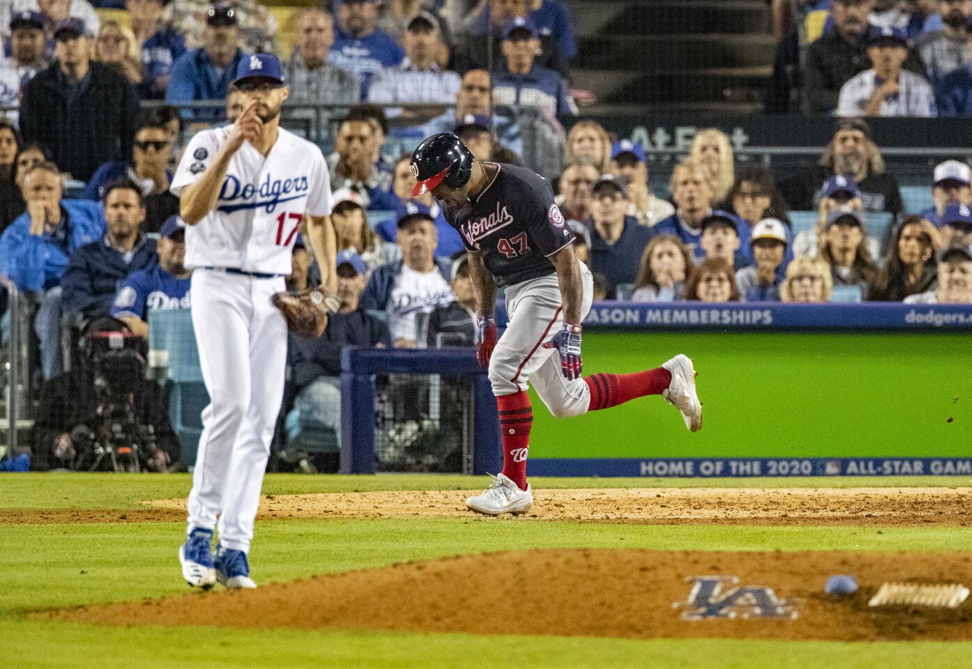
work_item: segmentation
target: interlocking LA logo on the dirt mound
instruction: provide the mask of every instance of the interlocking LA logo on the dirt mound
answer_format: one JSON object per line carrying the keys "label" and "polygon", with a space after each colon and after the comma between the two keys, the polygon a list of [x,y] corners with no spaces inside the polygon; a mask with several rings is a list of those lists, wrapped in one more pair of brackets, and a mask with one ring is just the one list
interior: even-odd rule
{"label": "interlocking LA logo on the dirt mound", "polygon": [[[684,602],[672,606],[684,608],[683,620],[709,619],[796,619],[793,603],[781,599],[770,587],[739,584],[735,576],[692,576],[692,591]],[[723,591],[723,586],[729,586]]]}

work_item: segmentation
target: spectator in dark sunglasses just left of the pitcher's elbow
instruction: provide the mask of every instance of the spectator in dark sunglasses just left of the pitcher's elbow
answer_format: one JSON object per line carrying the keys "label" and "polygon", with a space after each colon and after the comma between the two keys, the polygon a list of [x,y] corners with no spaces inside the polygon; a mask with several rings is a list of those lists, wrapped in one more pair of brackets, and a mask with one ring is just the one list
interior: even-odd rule
{"label": "spectator in dark sunglasses just left of the pitcher's elbow", "polygon": [[132,160],[112,160],[98,168],[85,186],[83,197],[102,200],[108,184],[127,179],[142,188],[146,217],[144,232],[157,232],[161,224],[179,211],[179,198],[169,192],[172,170],[169,156],[172,140],[160,120],[146,117],[135,132]]}

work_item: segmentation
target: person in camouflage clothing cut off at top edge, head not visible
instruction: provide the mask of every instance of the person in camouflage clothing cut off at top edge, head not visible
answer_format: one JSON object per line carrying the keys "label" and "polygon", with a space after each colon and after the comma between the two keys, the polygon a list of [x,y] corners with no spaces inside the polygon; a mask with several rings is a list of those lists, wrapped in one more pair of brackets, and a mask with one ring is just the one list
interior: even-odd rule
{"label": "person in camouflage clothing cut off at top edge, head not visible", "polygon": [[239,29],[240,48],[249,53],[273,53],[277,50],[277,22],[260,0],[177,0],[169,2],[162,20],[186,38],[189,49],[206,46],[208,17],[214,8],[232,9]]}

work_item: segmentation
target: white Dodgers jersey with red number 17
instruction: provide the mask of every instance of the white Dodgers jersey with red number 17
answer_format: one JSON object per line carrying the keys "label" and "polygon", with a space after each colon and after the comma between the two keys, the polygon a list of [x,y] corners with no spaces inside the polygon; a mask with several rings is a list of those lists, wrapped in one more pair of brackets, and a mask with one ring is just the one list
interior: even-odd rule
{"label": "white Dodgers jersey with red number 17", "polygon": [[[178,196],[195,183],[231,131],[226,125],[193,137],[169,190]],[[216,209],[186,226],[186,267],[289,275],[300,220],[330,216],[330,208],[330,175],[320,149],[284,128],[265,157],[245,142],[229,160]]]}

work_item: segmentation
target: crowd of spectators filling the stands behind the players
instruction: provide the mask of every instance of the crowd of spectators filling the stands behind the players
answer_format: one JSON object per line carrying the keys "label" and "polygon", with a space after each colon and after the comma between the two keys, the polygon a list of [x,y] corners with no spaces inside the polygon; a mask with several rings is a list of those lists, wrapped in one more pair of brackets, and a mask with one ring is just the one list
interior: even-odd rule
{"label": "crowd of spectators filling the stands behind the players", "polygon": [[[150,310],[189,305],[173,167],[191,132],[241,113],[240,60],[283,42],[256,0],[93,4],[115,13],[88,0],[0,9],[0,275],[36,308],[48,381],[66,373],[65,327],[108,318],[146,338]],[[969,166],[941,162],[933,205],[906,211],[862,118],[972,115],[972,2],[775,1],[771,97],[798,86],[806,111],[838,117],[816,168],[778,180],[708,128],[669,192],[649,187],[641,145],[578,117],[591,96],[572,87],[577,42],[558,0],[333,4],[300,12],[280,53],[285,121],[331,105],[341,301],[319,341],[291,341],[290,409],[336,424],[320,410],[338,402],[344,346],[471,344],[463,244],[430,194],[412,196],[410,151],[435,132],[551,181],[600,299],[972,303]],[[294,268],[290,285],[313,284],[299,240]]]}

